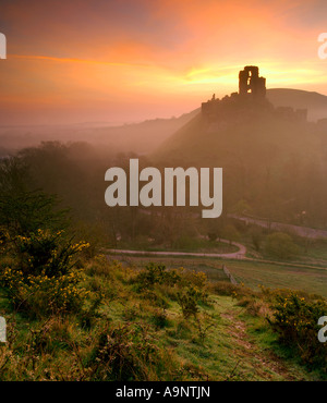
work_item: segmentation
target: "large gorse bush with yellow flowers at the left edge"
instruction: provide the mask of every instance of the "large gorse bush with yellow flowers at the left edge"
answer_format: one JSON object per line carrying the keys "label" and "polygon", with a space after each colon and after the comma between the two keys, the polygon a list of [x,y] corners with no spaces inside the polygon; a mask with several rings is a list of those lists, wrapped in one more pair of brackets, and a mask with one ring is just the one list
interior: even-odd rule
{"label": "large gorse bush with yellow flowers at the left edge", "polygon": [[74,258],[88,244],[62,239],[62,232],[38,230],[10,242],[11,266],[0,271],[4,289],[15,309],[28,315],[78,309],[87,293],[78,288],[83,279]]}

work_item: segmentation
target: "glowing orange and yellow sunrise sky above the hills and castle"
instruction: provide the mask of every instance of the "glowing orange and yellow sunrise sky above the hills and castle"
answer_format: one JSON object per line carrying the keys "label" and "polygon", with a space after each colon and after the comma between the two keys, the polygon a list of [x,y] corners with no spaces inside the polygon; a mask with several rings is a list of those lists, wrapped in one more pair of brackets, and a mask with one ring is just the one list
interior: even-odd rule
{"label": "glowing orange and yellow sunrise sky above the hills and castle", "polygon": [[327,95],[326,0],[0,0],[0,124],[169,118],[238,90]]}

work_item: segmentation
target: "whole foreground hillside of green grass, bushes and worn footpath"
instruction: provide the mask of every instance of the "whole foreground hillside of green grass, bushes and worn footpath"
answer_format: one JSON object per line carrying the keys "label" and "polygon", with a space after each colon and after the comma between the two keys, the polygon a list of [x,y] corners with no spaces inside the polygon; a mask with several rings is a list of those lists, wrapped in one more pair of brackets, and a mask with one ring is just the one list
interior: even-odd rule
{"label": "whole foreground hillside of green grass, bushes and worn footpath", "polygon": [[45,293],[38,282],[26,298],[24,281],[1,277],[1,380],[326,379],[327,350],[316,338],[322,297],[253,292],[156,264],[131,270],[101,255],[77,267],[74,291],[61,285],[70,304],[60,288]]}

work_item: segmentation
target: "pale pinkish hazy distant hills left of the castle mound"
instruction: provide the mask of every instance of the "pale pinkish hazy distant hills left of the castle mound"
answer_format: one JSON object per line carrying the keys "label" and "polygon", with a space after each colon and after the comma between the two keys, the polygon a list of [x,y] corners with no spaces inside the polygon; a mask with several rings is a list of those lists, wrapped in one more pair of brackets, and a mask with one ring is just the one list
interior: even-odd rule
{"label": "pale pinkish hazy distant hills left of the castle mound", "polygon": [[50,141],[87,142],[109,147],[112,152],[146,154],[158,147],[197,112],[198,109],[178,118],[153,119],[120,126],[97,122],[69,125],[0,126],[0,157],[25,147],[37,146],[40,142]]}

